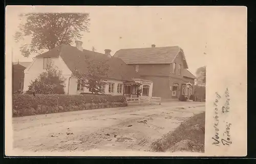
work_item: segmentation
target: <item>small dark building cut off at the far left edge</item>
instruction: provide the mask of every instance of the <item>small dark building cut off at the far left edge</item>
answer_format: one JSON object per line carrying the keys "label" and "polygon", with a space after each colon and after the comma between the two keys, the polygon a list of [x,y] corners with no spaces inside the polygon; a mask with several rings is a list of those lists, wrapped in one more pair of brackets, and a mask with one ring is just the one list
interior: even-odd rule
{"label": "small dark building cut off at the far left edge", "polygon": [[23,90],[25,69],[26,67],[19,63],[12,65],[12,93]]}

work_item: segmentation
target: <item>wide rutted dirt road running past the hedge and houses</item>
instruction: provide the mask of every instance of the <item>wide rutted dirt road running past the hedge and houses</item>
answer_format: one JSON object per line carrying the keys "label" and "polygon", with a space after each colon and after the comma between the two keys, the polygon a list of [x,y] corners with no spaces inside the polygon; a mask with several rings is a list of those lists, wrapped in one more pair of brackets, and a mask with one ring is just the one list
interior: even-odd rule
{"label": "wide rutted dirt road running past the hedge and houses", "polygon": [[140,150],[205,111],[201,102],[164,102],[13,118],[13,148],[24,151]]}

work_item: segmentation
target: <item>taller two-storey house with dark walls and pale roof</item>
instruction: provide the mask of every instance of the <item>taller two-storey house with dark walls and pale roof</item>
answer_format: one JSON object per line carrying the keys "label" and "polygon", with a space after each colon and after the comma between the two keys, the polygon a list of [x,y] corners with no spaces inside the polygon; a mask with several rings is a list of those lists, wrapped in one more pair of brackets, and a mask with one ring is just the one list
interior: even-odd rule
{"label": "taller two-storey house with dark walls and pale roof", "polygon": [[123,60],[154,83],[153,96],[189,97],[194,92],[196,77],[190,73],[183,50],[179,46],[120,49],[114,57]]}

